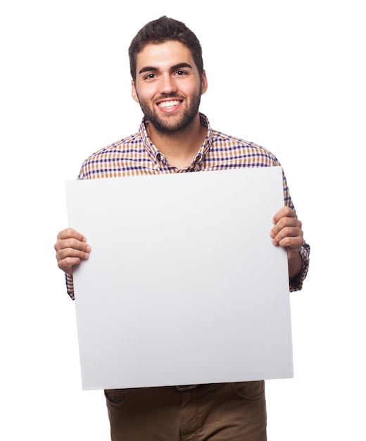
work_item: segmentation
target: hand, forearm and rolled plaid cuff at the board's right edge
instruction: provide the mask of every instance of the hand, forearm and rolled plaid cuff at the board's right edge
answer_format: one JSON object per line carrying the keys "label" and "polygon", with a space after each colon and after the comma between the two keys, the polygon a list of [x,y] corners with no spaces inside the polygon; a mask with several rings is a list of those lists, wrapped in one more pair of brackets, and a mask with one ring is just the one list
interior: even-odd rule
{"label": "hand, forearm and rolled plaid cuff at the board's right edge", "polygon": [[274,227],[270,231],[272,243],[287,250],[291,290],[301,290],[308,272],[310,248],[303,239],[302,223],[289,206],[277,211],[273,218]]}

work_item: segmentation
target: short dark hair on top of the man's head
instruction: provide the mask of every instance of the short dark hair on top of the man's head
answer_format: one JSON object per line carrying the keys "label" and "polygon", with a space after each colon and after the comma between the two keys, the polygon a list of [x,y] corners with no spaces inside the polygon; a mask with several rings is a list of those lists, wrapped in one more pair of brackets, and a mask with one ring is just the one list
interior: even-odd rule
{"label": "short dark hair on top of the man's head", "polygon": [[136,80],[137,55],[147,44],[162,44],[177,41],[187,46],[191,51],[194,62],[200,75],[203,73],[203,59],[201,44],[194,34],[184,23],[173,18],[163,17],[153,20],[141,27],[137,35],[132,39],[128,55],[130,56],[130,72],[132,80]]}

